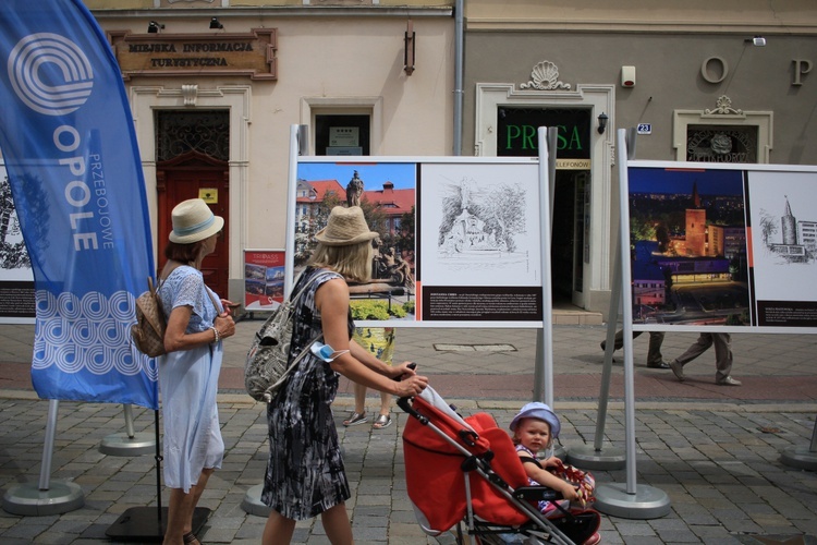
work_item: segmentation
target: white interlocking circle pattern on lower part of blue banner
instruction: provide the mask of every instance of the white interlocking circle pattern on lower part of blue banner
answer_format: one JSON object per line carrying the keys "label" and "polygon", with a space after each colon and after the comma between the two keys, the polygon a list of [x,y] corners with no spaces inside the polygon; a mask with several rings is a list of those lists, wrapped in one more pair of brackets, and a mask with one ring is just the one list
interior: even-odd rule
{"label": "white interlocking circle pattern on lower part of blue banner", "polygon": [[84,367],[95,375],[117,370],[126,376],[144,373],[156,380],[155,366],[142,367],[153,360],[134,356],[131,324],[135,304],[134,296],[126,291],[118,291],[110,299],[92,291],[81,299],[74,293],[54,296],[37,290],[42,335],[34,340],[32,368],[56,365],[63,373],[76,373]]}

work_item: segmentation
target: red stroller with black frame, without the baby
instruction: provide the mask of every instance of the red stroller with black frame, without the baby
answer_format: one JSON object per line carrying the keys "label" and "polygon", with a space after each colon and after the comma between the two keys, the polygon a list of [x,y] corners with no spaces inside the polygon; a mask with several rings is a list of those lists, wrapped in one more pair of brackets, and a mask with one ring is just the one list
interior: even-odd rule
{"label": "red stroller with black frame, without the baby", "polygon": [[406,484],[427,534],[456,525],[462,544],[464,522],[476,543],[581,544],[598,530],[592,509],[563,510],[557,519],[539,512],[538,500],[561,495],[527,485],[510,436],[491,415],[463,419],[430,387],[398,405],[411,416],[403,432]]}

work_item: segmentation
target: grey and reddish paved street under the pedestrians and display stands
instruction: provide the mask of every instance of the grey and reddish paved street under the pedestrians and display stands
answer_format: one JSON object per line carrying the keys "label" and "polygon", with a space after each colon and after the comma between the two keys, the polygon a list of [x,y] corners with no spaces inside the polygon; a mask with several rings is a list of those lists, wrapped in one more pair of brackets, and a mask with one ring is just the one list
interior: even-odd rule
{"label": "grey and reddish paved street under the pedestrians and display stands", "polygon": [[[242,365],[259,320],[242,320],[227,341],[219,410],[227,444],[202,505],[212,510],[203,543],[259,543],[264,517],[242,501],[260,483],[267,458],[264,408],[242,390]],[[554,408],[562,419],[562,445],[593,445],[598,421],[606,327],[553,327]],[[709,351],[687,364],[681,384],[671,372],[645,367],[647,337],[634,341],[635,436],[638,485],[666,493],[671,512],[639,520],[602,516],[603,543],[770,543],[817,536],[817,472],[780,462],[785,449],[808,448],[817,414],[817,337],[734,335],[733,376],[741,387],[716,386]],[[40,477],[48,402],[28,378],[33,326],[0,326],[0,487]],[[682,353],[694,334],[668,334],[666,359]],[[398,331],[397,358],[418,362],[437,391],[464,415],[491,413],[507,427],[532,398],[536,359],[534,329],[410,329]],[[615,354],[605,448],[624,448],[621,352]],[[426,537],[405,493],[401,432],[344,428],[351,385],[342,379],[336,402],[353,497],[347,508],[357,543],[452,543],[450,534]],[[369,411],[377,410],[373,393]],[[138,434],[153,436],[154,412],[134,408]],[[21,517],[0,511],[0,543],[111,543],[106,536],[131,507],[156,506],[153,456],[103,455],[100,444],[122,433],[122,405],[60,402],[51,480],[82,487],[84,507],[59,516]],[[622,470],[595,470],[597,483],[626,483]],[[446,491],[440,491],[444,494]],[[162,492],[162,505],[167,506]],[[763,541],[767,540],[767,541]],[[810,540],[810,541],[808,541]],[[300,523],[295,542],[328,543],[319,520]],[[794,543],[794,542],[789,542]]]}

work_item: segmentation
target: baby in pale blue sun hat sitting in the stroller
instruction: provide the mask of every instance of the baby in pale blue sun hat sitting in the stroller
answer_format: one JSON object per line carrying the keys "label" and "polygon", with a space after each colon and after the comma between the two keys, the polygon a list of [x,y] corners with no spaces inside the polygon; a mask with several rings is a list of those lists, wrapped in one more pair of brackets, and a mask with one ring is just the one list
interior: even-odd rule
{"label": "baby in pale blue sun hat sitting in the stroller", "polygon": [[[552,488],[564,497],[562,500],[538,504],[539,510],[546,517],[559,517],[570,509],[570,504],[581,504],[582,508],[593,500],[596,482],[593,475],[575,468],[564,465],[562,461],[550,456],[542,460],[536,455],[542,449],[549,449],[553,439],[559,437],[561,423],[556,413],[545,403],[534,401],[524,405],[513,417],[510,425],[512,439],[516,446],[516,453],[525,469],[529,484]],[[557,506],[557,502],[559,504]],[[595,532],[583,545],[596,545],[601,541]]]}

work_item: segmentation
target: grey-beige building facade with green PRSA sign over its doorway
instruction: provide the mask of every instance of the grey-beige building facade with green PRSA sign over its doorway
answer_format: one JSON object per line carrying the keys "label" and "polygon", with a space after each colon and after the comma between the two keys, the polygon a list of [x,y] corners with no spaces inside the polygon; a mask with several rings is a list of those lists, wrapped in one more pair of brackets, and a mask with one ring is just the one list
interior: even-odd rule
{"label": "grey-beige building facade with green PRSA sign over its doorway", "polygon": [[637,159],[817,164],[808,0],[466,0],[464,26],[463,153],[536,155],[535,128],[559,130],[557,301],[609,311],[617,130]]}

